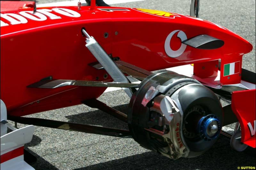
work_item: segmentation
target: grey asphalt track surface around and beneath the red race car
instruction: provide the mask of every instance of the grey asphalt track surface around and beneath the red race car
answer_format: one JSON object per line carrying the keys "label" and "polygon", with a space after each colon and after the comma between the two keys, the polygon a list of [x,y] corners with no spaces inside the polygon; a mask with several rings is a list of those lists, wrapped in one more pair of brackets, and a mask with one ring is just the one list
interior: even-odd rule
{"label": "grey asphalt track surface around and beneath the red race car", "polygon": [[[37,3],[44,4],[50,1],[42,0]],[[146,0],[112,6],[146,8],[189,15],[190,0]],[[201,0],[199,15],[202,19],[232,30],[253,45],[252,52],[244,55],[242,66],[255,72],[255,0]],[[103,93],[99,100],[127,113],[129,98],[122,90]],[[84,105],[28,117],[127,129],[127,125],[118,119]],[[18,124],[19,128],[22,126]],[[205,154],[175,161],[142,148],[131,137],[108,137],[37,126],[32,142],[27,144],[26,148],[37,157],[36,164],[32,165],[37,170],[232,170],[238,169],[238,166],[255,167],[256,162],[255,150],[236,152],[230,148],[229,139],[224,136],[220,136],[212,149]]]}

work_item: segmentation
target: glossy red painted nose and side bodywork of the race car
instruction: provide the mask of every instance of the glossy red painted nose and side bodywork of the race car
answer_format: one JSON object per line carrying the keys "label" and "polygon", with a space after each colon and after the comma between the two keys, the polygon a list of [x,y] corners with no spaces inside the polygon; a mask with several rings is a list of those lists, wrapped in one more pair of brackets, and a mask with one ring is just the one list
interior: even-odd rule
{"label": "glossy red painted nose and side bodywork of the race car", "polygon": [[[79,17],[60,14],[54,7],[37,8],[50,10],[51,15],[43,21],[29,14],[26,23],[12,25],[1,17],[1,99],[10,115],[28,115],[36,112],[80,104],[82,100],[97,98],[105,88],[61,87],[57,89],[34,89],[28,85],[42,78],[73,80],[105,80],[104,70],[96,70],[89,63],[96,59],[85,47],[85,38],[81,28],[93,36],[107,54],[119,57],[146,70],[159,70],[190,63],[204,63],[221,59],[223,64],[241,61],[242,55],[252,50],[252,45],[229,31],[209,21],[201,21],[180,14],[166,13],[159,16],[141,9],[115,8],[104,11],[102,8],[90,10],[90,7],[61,7],[78,13]],[[23,9],[1,12],[21,16]],[[23,13],[24,14],[24,13]],[[56,17],[57,16],[57,17]],[[71,15],[72,16],[72,15]],[[36,18],[35,18],[36,17]],[[42,18],[41,18],[42,19]],[[2,24],[2,23],[1,23]],[[164,44],[167,36],[175,30],[186,34],[187,39],[207,34],[223,40],[221,48],[213,50],[196,49],[186,46],[178,57],[167,55]],[[108,33],[108,38],[104,38]],[[170,40],[170,48],[179,50],[182,44],[178,34]],[[174,43],[176,42],[176,43]],[[168,43],[168,42],[167,42]],[[172,44],[174,43],[173,47]],[[147,62],[145,62],[147,61]],[[241,65],[240,65],[241,68]],[[240,69],[241,72],[241,69]],[[213,73],[215,74],[215,73]],[[202,75],[205,77],[205,75]],[[240,75],[230,78],[221,77],[222,84],[240,82]],[[38,102],[37,102],[38,101]]]}

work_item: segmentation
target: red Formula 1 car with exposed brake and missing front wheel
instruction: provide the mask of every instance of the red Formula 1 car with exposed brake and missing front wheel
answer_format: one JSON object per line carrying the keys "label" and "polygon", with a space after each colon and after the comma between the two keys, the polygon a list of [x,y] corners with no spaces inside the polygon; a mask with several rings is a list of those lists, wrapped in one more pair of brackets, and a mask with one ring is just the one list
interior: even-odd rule
{"label": "red Formula 1 car with exposed brake and missing front wheel", "polygon": [[[191,7],[196,16],[198,4]],[[1,168],[32,168],[23,161],[32,125],[132,135],[178,159],[203,154],[222,126],[237,122],[231,146],[255,148],[255,73],[242,69],[251,50],[225,27],[171,12],[95,1],[1,8]],[[128,115],[97,100],[107,87],[121,87],[131,98]],[[231,104],[222,107],[220,97]],[[129,131],[21,117],[81,103],[127,122]],[[7,120],[30,126],[15,129]]]}

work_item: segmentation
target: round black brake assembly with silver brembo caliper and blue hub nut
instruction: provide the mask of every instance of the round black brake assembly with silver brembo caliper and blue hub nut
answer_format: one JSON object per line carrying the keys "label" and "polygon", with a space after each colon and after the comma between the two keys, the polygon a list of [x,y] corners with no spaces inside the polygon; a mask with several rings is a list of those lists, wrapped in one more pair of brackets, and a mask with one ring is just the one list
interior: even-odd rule
{"label": "round black brake assembly with silver brembo caliper and blue hub nut", "polygon": [[129,130],[141,146],[171,159],[196,157],[215,143],[222,126],[217,96],[197,80],[162,70],[133,93]]}

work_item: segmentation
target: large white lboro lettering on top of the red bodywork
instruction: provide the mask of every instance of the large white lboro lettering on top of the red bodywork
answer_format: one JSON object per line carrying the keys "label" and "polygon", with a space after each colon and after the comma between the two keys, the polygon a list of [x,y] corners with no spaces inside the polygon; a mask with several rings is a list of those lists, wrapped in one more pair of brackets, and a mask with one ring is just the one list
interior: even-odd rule
{"label": "large white lboro lettering on top of the red bodywork", "polygon": [[[52,12],[55,12],[57,15],[53,14]],[[0,14],[1,18],[4,18],[5,20],[8,21],[4,22],[1,20],[0,24],[2,27],[9,25],[26,24],[28,22],[28,19],[34,21],[45,21],[47,18],[61,19],[61,15],[73,18],[78,18],[81,16],[78,12],[66,8],[52,8],[52,10],[40,9],[37,10],[36,13],[33,13],[33,11],[20,11],[19,14]]]}

